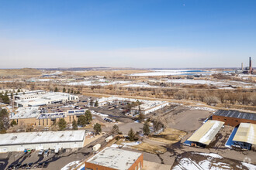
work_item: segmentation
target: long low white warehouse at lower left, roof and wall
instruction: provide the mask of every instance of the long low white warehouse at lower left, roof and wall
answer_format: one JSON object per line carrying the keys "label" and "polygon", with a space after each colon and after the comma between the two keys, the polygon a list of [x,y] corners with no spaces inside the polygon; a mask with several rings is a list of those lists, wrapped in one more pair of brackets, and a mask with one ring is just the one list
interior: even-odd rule
{"label": "long low white warehouse at lower left, roof and wall", "polygon": [[40,131],[0,134],[0,153],[25,149],[82,148],[85,131]]}

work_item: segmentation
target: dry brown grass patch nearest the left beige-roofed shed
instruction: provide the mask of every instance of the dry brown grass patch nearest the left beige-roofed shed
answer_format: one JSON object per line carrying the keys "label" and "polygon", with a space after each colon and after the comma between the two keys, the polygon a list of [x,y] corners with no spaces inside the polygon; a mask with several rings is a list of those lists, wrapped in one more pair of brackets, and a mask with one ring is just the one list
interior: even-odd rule
{"label": "dry brown grass patch nearest the left beige-roofed shed", "polygon": [[165,144],[171,145],[180,141],[187,133],[173,128],[166,128],[160,134],[154,134],[149,139],[152,141],[160,141]]}

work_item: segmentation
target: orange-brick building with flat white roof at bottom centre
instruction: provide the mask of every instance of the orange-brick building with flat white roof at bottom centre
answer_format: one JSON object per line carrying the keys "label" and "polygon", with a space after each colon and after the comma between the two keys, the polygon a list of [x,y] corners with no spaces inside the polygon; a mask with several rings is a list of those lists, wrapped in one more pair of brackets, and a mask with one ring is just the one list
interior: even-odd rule
{"label": "orange-brick building with flat white roof at bottom centre", "polygon": [[85,170],[140,170],[143,154],[118,148],[104,148],[85,162]]}

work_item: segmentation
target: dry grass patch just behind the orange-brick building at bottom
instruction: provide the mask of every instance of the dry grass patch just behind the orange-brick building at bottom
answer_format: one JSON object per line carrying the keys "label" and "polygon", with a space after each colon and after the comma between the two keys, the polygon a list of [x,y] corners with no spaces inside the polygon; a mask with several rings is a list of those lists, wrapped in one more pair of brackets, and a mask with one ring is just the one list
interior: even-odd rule
{"label": "dry grass patch just behind the orange-brick building at bottom", "polygon": [[158,145],[150,145],[148,143],[141,143],[140,145],[132,146],[131,148],[136,148],[140,151],[146,151],[150,154],[163,154],[167,151],[166,148]]}

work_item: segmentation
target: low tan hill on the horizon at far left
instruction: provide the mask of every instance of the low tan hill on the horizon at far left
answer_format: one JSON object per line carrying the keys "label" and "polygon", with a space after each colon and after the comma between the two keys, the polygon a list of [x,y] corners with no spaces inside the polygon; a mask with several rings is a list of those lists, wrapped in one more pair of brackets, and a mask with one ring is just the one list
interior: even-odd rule
{"label": "low tan hill on the horizon at far left", "polygon": [[40,75],[42,72],[40,70],[36,69],[30,69],[30,68],[24,68],[24,69],[1,69],[0,70],[0,76],[20,76],[20,75],[26,75],[26,76],[36,76]]}

